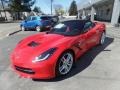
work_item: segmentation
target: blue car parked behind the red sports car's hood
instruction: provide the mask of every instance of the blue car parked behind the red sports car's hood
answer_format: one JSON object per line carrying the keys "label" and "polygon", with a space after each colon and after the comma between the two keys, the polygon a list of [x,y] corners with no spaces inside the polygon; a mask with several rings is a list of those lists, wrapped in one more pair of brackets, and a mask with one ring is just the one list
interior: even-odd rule
{"label": "blue car parked behind the red sports car's hood", "polygon": [[30,29],[42,31],[43,29],[47,30],[52,26],[53,23],[47,16],[30,16],[20,24],[22,31]]}

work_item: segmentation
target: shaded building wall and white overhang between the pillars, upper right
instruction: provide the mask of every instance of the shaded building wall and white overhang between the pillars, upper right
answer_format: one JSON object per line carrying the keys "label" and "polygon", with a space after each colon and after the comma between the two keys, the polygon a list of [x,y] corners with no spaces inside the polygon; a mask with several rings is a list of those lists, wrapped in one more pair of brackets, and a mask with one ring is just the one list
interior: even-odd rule
{"label": "shaded building wall and white overhang between the pillars, upper right", "polygon": [[85,10],[85,15],[90,14],[91,7],[93,6],[96,14],[95,19],[100,21],[111,21],[115,0],[91,0],[91,3],[89,1],[90,0],[86,0],[86,3],[78,4],[80,14],[82,14],[83,10]]}

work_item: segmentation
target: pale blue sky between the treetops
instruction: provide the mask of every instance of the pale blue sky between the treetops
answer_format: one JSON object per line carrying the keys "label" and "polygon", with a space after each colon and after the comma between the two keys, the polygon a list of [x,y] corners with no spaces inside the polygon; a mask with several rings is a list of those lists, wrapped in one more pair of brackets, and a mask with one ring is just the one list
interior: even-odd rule
{"label": "pale blue sky between the treetops", "polygon": [[[41,10],[44,13],[50,14],[50,12],[51,12],[50,11],[51,10],[51,8],[50,8],[50,6],[51,6],[50,1],[51,0],[36,0],[36,3],[35,3],[34,6],[38,6],[38,7],[41,8]],[[56,5],[56,4],[60,4],[60,5],[63,6],[63,8],[65,10],[68,10],[72,1],[73,0],[54,0],[53,6]],[[81,0],[75,0],[75,1],[76,1],[76,3],[79,3]]]}

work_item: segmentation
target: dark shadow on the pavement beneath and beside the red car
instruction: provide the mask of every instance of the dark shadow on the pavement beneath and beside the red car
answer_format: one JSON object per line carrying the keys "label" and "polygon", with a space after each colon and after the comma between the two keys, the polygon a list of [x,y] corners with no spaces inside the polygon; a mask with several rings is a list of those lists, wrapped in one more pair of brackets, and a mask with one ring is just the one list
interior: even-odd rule
{"label": "dark shadow on the pavement beneath and beside the red car", "polygon": [[65,76],[60,76],[54,79],[49,79],[49,80],[41,80],[41,79],[34,79],[34,81],[38,82],[58,82],[61,80],[68,79],[70,77],[73,77],[74,75],[82,72],[86,68],[88,68],[91,63],[93,62],[94,58],[100,54],[103,51],[110,52],[111,50],[106,49],[112,42],[114,41],[114,38],[106,37],[105,39],[105,44],[104,45],[97,45],[96,47],[93,47],[92,49],[88,50],[83,56],[81,56],[71,72]]}

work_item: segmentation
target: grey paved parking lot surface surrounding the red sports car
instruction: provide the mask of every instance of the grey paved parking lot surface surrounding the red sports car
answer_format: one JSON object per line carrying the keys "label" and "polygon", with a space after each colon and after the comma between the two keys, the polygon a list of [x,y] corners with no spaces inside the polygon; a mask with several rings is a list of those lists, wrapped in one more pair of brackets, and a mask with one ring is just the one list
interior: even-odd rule
{"label": "grey paved parking lot surface surrounding the red sports car", "polygon": [[67,76],[52,80],[20,78],[10,67],[13,48],[35,33],[19,32],[0,40],[0,90],[120,90],[120,28],[107,28],[103,46],[85,53]]}

